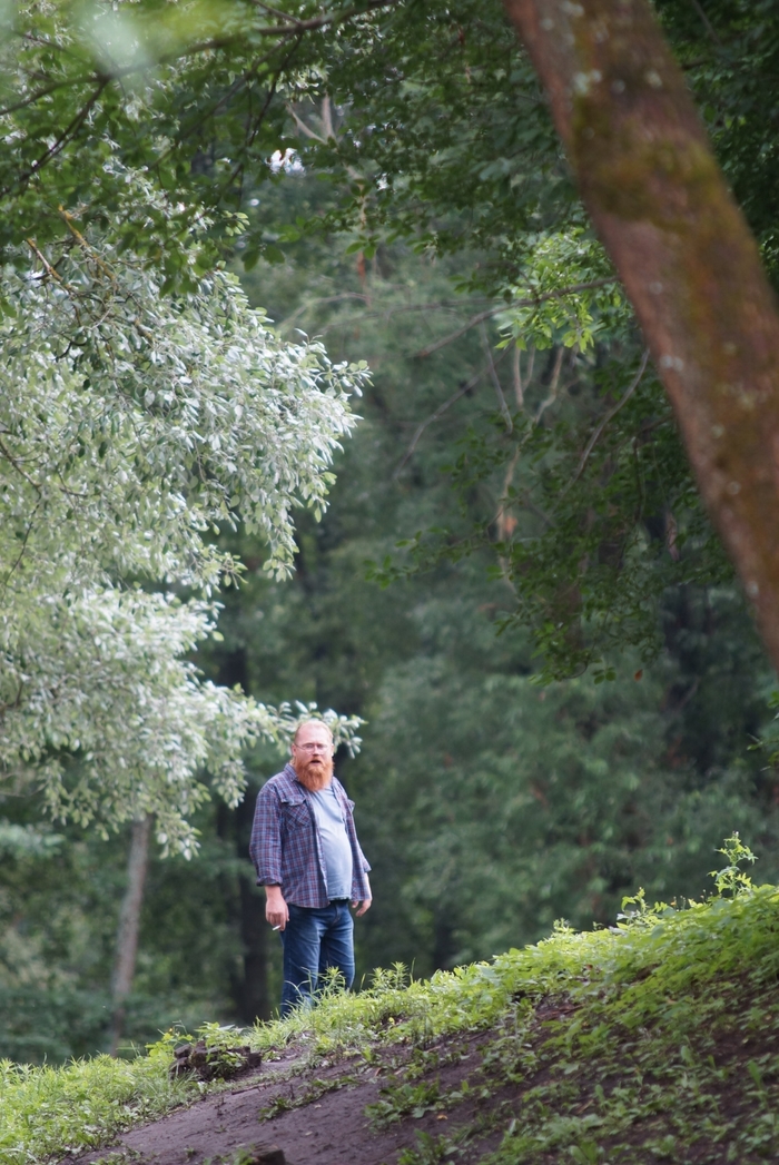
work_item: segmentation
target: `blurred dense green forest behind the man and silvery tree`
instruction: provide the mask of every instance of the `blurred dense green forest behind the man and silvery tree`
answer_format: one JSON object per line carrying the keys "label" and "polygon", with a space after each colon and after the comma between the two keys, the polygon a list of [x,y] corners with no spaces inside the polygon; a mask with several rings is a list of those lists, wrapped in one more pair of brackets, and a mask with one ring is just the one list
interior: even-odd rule
{"label": "blurred dense green forest behind the man and silvery tree", "polygon": [[[306,178],[286,182],[305,197]],[[288,197],[286,185],[274,197]],[[427,975],[487,958],[537,940],[557,918],[608,925],[639,885],[650,898],[700,895],[732,829],[760,855],[760,877],[776,880],[779,779],[755,747],[772,719],[772,676],[735,585],[668,588],[654,662],[614,652],[612,679],[539,685],[527,634],[501,631],[514,594],[489,548],[385,588],[367,578],[368,563],[418,529],[467,531],[495,510],[502,469],[455,490],[452,447],[501,418],[482,377],[410,454],[452,387],[476,376],[482,337],[470,329],[418,353],[479,304],[458,296],[455,262],[403,245],[367,263],[344,250],[302,246],[246,277],[282,330],[325,336],[334,359],[367,359],[373,387],[330,510],[320,523],[299,520],[293,580],[268,580],[260,550],[239,536],[249,573],[226,594],[224,642],[198,662],[271,702],[293,691],[367,721],[360,755],[338,765],[374,867],[357,979],[397,961]],[[537,353],[530,400],[545,400],[554,360],[554,350]],[[576,393],[586,386],[569,384],[571,408]],[[250,763],[236,810],[200,811],[197,859],[153,857],[128,1042],[175,1022],[247,1023],[276,1005],[279,952],[247,845],[253,793],[283,760],[265,748]],[[44,828],[34,803],[6,799],[3,816],[3,1053],[98,1050],[128,839]]]}

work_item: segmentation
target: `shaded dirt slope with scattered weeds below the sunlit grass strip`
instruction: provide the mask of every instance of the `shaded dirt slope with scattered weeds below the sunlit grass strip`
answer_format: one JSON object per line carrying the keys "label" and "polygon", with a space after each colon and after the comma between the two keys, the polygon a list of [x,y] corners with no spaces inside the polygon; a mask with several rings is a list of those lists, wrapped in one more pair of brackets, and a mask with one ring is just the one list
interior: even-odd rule
{"label": "shaded dirt slope with scattered weeds below the sunlit grass strip", "polygon": [[[599,1044],[589,1059],[571,1057],[572,1037],[588,1037],[585,1012],[566,997],[424,1046],[374,1045],[323,1059],[303,1039],[229,1090],[136,1128],[77,1165],[475,1165],[507,1132],[503,1160],[512,1165],[777,1160],[778,995],[776,987],[755,995],[745,982],[725,984],[708,1022],[691,1029],[671,1014],[654,1031],[624,1030]],[[694,1003],[702,1018],[707,1002],[685,1009]]]}

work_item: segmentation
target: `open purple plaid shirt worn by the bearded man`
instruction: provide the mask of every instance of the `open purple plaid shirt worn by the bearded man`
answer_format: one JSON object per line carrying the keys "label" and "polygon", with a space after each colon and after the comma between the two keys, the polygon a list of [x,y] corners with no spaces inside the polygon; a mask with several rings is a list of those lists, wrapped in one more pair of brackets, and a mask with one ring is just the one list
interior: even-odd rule
{"label": "open purple plaid shirt worn by the bearded man", "polygon": [[[354,828],[354,802],[346,796],[338,777],[333,777],[333,789],[352,842],[352,899],[364,902],[370,897],[366,877],[370,866]],[[319,831],[309,790],[300,784],[291,764],[285,764],[284,771],[271,777],[257,793],[249,854],[257,871],[257,885],[281,885],[286,902],[296,906],[321,910],[327,905]]]}

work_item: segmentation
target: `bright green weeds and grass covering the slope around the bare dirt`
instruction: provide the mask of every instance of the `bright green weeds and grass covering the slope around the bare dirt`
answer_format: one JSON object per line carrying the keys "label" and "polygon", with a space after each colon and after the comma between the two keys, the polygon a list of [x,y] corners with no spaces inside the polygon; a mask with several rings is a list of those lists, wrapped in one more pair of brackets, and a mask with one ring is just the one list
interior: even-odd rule
{"label": "bright green weeds and grass covering the slope around the bare dirt", "polygon": [[[326,989],[313,1011],[240,1033],[210,1024],[199,1036],[214,1055],[229,1055],[235,1043],[270,1052],[293,1042],[314,1064],[339,1052],[370,1060],[394,1045],[424,1050],[441,1036],[483,1030],[482,1092],[487,1081],[495,1103],[482,1123],[500,1134],[495,1165],[773,1158],[779,1055],[769,1046],[750,1058],[749,1048],[756,1033],[779,1031],[779,888],[752,885],[739,868],[752,855],[737,836],[723,853],[728,866],[706,902],[649,908],[639,892],[608,930],[575,933],[560,923],[548,939],[489,963],[415,982],[396,967],[359,995]],[[182,1038],[168,1032],[130,1061],[3,1062],[0,1160],[36,1165],[104,1144],[215,1087],[170,1079]],[[411,1073],[387,1090],[373,1120],[454,1110],[467,1096],[467,1087],[446,1096]],[[423,1136],[401,1160],[453,1159],[467,1136]]]}

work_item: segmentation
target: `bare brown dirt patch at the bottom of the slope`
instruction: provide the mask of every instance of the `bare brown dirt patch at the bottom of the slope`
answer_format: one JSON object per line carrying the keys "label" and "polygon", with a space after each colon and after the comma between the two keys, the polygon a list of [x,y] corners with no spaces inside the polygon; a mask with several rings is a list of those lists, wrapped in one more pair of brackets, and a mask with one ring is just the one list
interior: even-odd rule
{"label": "bare brown dirt patch at the bottom of the slope", "polygon": [[[430,1076],[433,1093],[456,1093],[481,1065],[481,1044],[475,1036],[438,1042],[426,1050],[437,1068]],[[306,1058],[307,1059],[307,1058]],[[408,1071],[412,1052],[398,1048],[368,1062],[362,1055],[335,1061],[319,1060],[304,1072],[300,1047],[286,1050],[259,1071],[243,1076],[228,1092],[207,1096],[161,1121],[127,1132],[112,1149],[77,1159],[78,1165],[98,1160],[127,1160],[136,1165],[203,1165],[205,1162],[262,1162],[263,1152],[281,1150],[285,1165],[382,1165],[396,1162],[401,1150],[415,1145],[416,1134],[435,1135],[446,1123],[474,1129],[484,1099],[474,1097],[456,1111],[425,1111],[416,1117],[370,1120],[367,1106],[382,1100],[382,1089]],[[432,1099],[432,1095],[431,1095]],[[475,1136],[466,1162],[476,1162],[494,1146],[495,1134]],[[269,1165],[282,1165],[268,1153]]]}

